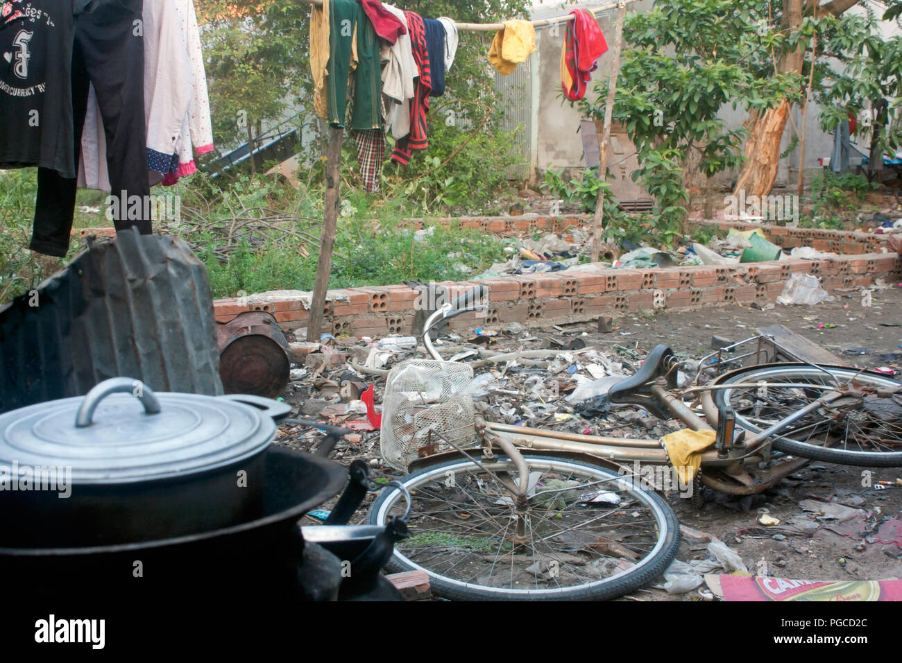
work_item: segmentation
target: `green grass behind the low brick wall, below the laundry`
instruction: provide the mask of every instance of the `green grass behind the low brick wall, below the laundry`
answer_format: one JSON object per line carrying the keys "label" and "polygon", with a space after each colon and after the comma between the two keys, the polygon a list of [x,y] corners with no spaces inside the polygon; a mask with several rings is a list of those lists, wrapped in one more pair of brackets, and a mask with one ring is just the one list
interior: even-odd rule
{"label": "green grass behind the low brick wall, below the laundry", "polygon": [[[224,188],[225,189],[225,188]],[[36,170],[12,170],[0,174],[0,302],[27,292],[50,276],[41,261],[35,261],[27,246],[32,231],[34,198],[37,192]],[[311,290],[316,277],[318,243],[299,238],[286,240],[272,232],[262,236],[252,248],[238,244],[227,256],[216,254],[226,238],[210,228],[228,223],[235,216],[265,216],[263,208],[290,214],[297,221],[291,226],[319,236],[323,190],[292,189],[275,177],[241,177],[219,189],[203,175],[195,175],[185,184],[169,189],[153,189],[154,194],[181,196],[182,213],[195,223],[174,228],[192,245],[207,265],[210,287],[215,298],[234,297],[266,290]],[[108,227],[104,216],[106,194],[79,191],[74,226]],[[86,212],[79,207],[99,207]],[[414,239],[412,230],[400,227],[404,217],[423,216],[423,207],[400,197],[381,197],[343,190],[343,214],[338,220],[335,255],[330,288],[385,285],[405,280],[462,280],[488,269],[492,262],[504,259],[502,240],[460,226],[437,226],[426,241]],[[377,219],[373,221],[373,219]],[[84,248],[73,238],[68,259]],[[305,255],[305,253],[307,253]],[[470,271],[459,269],[463,264]]]}

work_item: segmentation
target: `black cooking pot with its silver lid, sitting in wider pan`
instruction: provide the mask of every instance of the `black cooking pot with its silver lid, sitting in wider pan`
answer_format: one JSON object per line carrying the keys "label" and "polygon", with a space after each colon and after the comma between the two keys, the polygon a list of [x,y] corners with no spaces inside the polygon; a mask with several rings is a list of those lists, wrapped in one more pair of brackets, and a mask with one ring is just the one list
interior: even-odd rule
{"label": "black cooking pot with its silver lid, sitting in wider pan", "polygon": [[0,547],[120,545],[259,518],[263,452],[289,411],[113,378],[0,415]]}

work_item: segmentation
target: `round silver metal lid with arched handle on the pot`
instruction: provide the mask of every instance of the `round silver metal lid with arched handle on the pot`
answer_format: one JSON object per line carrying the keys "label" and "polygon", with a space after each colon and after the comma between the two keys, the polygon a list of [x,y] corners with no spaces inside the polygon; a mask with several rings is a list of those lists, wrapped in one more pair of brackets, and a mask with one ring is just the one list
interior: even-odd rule
{"label": "round silver metal lid with arched handle on the pot", "polygon": [[181,478],[262,451],[275,436],[279,407],[253,397],[154,393],[113,378],[84,397],[0,415],[0,465],[7,472],[14,464],[70,467],[72,483],[82,484]]}

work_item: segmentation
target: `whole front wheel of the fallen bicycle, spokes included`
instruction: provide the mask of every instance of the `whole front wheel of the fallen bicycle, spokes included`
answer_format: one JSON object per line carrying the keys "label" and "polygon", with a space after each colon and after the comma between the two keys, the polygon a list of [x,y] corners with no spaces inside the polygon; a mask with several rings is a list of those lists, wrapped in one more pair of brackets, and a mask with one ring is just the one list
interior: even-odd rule
{"label": "whole front wheel of the fallen bicycle, spokes included", "polygon": [[[410,537],[388,568],[428,572],[433,593],[448,599],[601,600],[649,584],[676,556],[673,511],[637,479],[564,458],[525,460],[520,511],[504,487],[520,478],[507,456],[482,466],[458,458],[403,477]],[[370,522],[403,513],[401,495],[385,489]]]}

